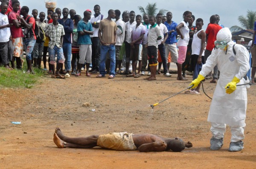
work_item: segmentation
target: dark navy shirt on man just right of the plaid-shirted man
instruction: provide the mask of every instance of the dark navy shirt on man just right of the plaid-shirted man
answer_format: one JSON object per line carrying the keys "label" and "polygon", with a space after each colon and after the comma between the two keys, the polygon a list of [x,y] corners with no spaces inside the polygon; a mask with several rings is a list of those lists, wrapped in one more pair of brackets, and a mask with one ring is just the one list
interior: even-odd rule
{"label": "dark navy shirt on man just right of the plaid-shirted man", "polygon": [[64,23],[64,20],[62,18],[58,20],[58,23],[64,27],[65,35],[63,37],[63,43],[72,43],[72,33],[74,29],[73,20],[68,18],[67,20],[65,20],[65,23]]}

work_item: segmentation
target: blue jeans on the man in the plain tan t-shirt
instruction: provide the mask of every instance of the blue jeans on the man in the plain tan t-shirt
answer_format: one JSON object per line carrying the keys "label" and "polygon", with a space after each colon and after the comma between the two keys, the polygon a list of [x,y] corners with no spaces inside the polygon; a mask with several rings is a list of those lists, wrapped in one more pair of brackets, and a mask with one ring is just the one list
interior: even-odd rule
{"label": "blue jeans on the man in the plain tan t-shirt", "polygon": [[116,67],[116,48],[115,45],[101,45],[100,50],[101,56],[100,56],[100,62],[99,62],[99,73],[103,76],[105,76],[105,61],[107,53],[110,57],[110,73],[109,75],[115,76],[115,67]]}

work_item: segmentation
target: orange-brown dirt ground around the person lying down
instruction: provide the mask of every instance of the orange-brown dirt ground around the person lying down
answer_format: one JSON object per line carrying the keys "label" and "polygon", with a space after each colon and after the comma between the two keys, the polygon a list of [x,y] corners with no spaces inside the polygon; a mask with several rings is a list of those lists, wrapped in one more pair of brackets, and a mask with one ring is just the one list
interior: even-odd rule
{"label": "orange-brown dirt ground around the person lying down", "polygon": [[[114,79],[74,76],[42,79],[32,89],[0,90],[0,168],[255,168],[256,86],[248,89],[245,148],[228,152],[209,149],[211,100],[181,93],[159,104],[148,104],[183,90],[189,81],[157,75],[157,81],[118,75]],[[209,96],[215,84],[204,82]],[[87,103],[86,103],[87,102]],[[86,104],[84,104],[86,103]],[[84,104],[84,106],[83,106]],[[86,107],[88,106],[88,107]],[[95,111],[92,111],[95,109]],[[10,121],[21,121],[16,125]],[[58,149],[52,141],[55,127],[70,137],[108,132],[151,133],[180,137],[193,147],[183,152],[123,152],[104,149]]]}

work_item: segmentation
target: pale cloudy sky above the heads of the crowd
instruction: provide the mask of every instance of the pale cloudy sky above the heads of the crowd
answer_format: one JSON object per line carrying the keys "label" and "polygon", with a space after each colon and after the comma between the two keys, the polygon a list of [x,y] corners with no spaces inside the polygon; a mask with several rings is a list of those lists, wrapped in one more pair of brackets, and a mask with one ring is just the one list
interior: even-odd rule
{"label": "pale cloudy sky above the heads of the crowd", "polygon": [[[32,9],[34,8],[38,9],[38,12],[47,12],[44,1],[48,0],[19,1],[20,6],[29,7],[29,14],[32,13]],[[184,11],[191,11],[195,15],[195,19],[202,18],[204,20],[204,29],[206,29],[209,18],[213,14],[220,16],[220,24],[230,28],[233,25],[241,26],[237,19],[240,15],[246,16],[247,10],[256,11],[255,0],[56,0],[56,2],[57,7],[61,9],[75,9],[76,14],[82,17],[86,9],[90,9],[93,12],[93,6],[96,4],[101,7],[101,14],[107,17],[109,9],[119,9],[121,14],[125,10],[135,11],[135,14],[141,14],[138,6],[145,8],[148,3],[156,2],[158,9],[163,8],[172,12],[172,20],[176,23],[180,23],[183,20],[182,15]]]}

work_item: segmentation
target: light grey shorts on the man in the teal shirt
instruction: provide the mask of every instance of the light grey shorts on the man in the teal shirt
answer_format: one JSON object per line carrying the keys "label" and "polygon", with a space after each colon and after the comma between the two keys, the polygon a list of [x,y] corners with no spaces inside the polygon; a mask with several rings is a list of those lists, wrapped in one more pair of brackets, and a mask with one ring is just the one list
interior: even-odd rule
{"label": "light grey shorts on the man in the teal shirt", "polygon": [[92,62],[92,45],[79,45],[79,64]]}

